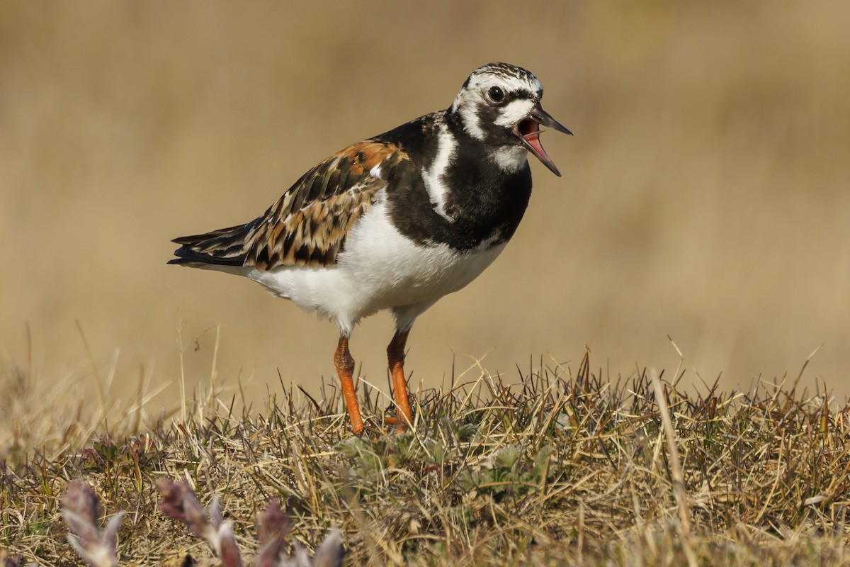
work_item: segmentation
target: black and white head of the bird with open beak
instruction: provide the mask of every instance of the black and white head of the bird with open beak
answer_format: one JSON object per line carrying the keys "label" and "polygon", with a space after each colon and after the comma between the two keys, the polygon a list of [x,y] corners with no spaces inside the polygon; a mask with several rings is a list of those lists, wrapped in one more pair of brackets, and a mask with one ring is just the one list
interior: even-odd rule
{"label": "black and white head of the bird with open beak", "polygon": [[543,87],[529,71],[507,63],[490,63],[473,71],[463,83],[449,112],[463,129],[491,149],[496,163],[513,171],[525,162],[526,150],[560,176],[540,143],[540,126],[572,135],[540,100]]}

